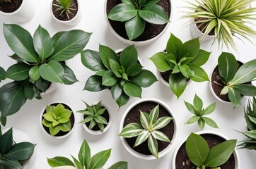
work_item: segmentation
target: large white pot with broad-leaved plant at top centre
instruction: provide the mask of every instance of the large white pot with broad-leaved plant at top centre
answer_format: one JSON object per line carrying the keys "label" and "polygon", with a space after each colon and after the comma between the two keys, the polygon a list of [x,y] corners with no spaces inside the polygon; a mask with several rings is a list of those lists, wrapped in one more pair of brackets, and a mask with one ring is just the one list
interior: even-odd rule
{"label": "large white pot with broad-leaved plant at top centre", "polygon": [[170,0],[105,1],[107,26],[125,44],[146,46],[161,37],[169,25]]}

